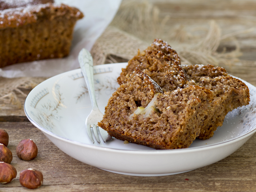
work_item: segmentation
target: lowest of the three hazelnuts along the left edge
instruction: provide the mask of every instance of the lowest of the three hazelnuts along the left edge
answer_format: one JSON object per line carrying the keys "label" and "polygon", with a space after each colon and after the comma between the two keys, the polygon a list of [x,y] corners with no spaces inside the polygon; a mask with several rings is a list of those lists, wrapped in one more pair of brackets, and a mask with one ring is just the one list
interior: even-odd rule
{"label": "lowest of the three hazelnuts along the left edge", "polygon": [[11,164],[0,162],[0,183],[10,183],[16,176],[17,171]]}

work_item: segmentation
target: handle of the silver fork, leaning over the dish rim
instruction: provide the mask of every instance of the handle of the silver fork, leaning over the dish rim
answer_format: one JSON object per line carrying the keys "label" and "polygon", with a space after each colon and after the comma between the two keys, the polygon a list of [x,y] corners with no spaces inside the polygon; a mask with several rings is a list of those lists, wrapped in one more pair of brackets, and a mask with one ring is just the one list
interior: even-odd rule
{"label": "handle of the silver fork, leaning over the dish rim", "polygon": [[78,55],[78,60],[82,73],[85,77],[85,82],[88,88],[88,92],[90,95],[90,100],[92,103],[92,109],[98,108],[96,98],[95,98],[95,91],[94,91],[94,79],[93,79],[93,60],[92,56],[89,51],[86,49],[82,49]]}

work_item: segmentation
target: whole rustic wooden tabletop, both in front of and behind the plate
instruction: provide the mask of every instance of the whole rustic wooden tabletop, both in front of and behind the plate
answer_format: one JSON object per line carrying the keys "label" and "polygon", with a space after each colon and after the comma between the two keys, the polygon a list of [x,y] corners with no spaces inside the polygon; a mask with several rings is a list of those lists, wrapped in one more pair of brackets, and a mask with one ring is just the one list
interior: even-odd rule
{"label": "whole rustic wooden tabletop, both in front of and behind the plate", "polygon": [[[190,18],[185,14],[186,11],[189,11],[189,4],[184,4],[183,9],[183,7],[177,5],[177,2],[160,2],[157,5],[163,16],[168,11],[177,12],[178,9],[181,10],[175,13],[176,16],[178,13],[180,14],[180,22],[192,24]],[[183,2],[189,1],[184,0]],[[207,19],[217,19],[226,30],[228,24],[233,28],[240,25],[242,29],[245,29],[256,23],[255,1],[223,1],[226,6],[230,5],[227,12],[225,12],[224,6],[218,4],[220,2],[212,1],[211,4],[206,6],[203,4],[203,0],[197,0],[197,6],[193,7],[196,11],[190,17],[198,18],[197,23],[204,24],[206,24],[205,20]],[[243,6],[239,6],[238,9],[235,3],[240,3]],[[212,14],[212,17],[215,18],[209,18],[211,13],[216,13]],[[243,23],[239,15],[235,13],[251,14],[249,24]],[[241,59],[249,58],[251,60],[250,65],[254,66],[256,65],[254,54],[256,46],[253,43],[255,37],[255,33],[252,33],[246,39],[244,36],[239,38],[244,53]],[[238,73],[235,73],[235,75],[242,78],[246,77],[248,82],[256,85],[255,78],[250,79],[246,74],[239,76]],[[253,72],[251,75],[253,75]],[[23,102],[24,97],[21,96],[20,98]],[[179,175],[134,177],[110,173],[68,156],[28,121],[23,108],[20,110],[0,110],[0,128],[5,129],[9,134],[8,148],[13,153],[11,164],[17,169],[18,173],[16,179],[11,183],[0,184],[0,192],[31,191],[22,187],[19,183],[20,171],[27,168],[35,168],[43,173],[43,185],[35,191],[256,191],[256,135],[252,136],[236,152],[215,164]],[[29,162],[20,160],[15,153],[19,141],[26,138],[32,139],[38,146],[37,158]]]}

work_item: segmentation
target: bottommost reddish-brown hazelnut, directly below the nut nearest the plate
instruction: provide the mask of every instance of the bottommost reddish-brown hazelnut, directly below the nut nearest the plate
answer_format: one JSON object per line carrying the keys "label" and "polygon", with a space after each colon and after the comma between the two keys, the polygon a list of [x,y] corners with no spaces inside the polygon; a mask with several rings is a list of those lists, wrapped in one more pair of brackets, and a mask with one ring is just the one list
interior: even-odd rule
{"label": "bottommost reddish-brown hazelnut, directly below the nut nearest the plate", "polygon": [[22,186],[35,189],[43,184],[43,174],[35,169],[26,169],[20,173],[20,183]]}

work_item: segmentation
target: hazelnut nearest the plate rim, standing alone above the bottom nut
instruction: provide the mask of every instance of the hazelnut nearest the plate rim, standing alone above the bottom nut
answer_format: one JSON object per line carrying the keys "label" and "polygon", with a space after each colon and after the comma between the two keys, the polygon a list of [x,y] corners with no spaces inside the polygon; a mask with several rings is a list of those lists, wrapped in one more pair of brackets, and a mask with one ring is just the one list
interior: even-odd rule
{"label": "hazelnut nearest the plate rim, standing alone above the bottom nut", "polygon": [[24,139],[17,145],[16,153],[20,159],[30,161],[36,158],[38,148],[36,147],[36,143],[31,139]]}

